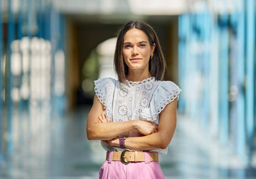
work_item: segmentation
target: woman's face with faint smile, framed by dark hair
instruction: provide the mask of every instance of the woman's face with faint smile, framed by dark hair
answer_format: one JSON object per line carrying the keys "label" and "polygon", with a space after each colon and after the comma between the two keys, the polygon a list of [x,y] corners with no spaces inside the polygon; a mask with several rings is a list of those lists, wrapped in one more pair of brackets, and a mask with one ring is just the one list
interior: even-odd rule
{"label": "woman's face with faint smile, framed by dark hair", "polygon": [[[139,29],[130,29],[124,36],[123,57],[129,69],[144,69],[149,66],[150,54],[154,52],[151,48],[145,32]],[[137,60],[132,60],[138,58]]]}

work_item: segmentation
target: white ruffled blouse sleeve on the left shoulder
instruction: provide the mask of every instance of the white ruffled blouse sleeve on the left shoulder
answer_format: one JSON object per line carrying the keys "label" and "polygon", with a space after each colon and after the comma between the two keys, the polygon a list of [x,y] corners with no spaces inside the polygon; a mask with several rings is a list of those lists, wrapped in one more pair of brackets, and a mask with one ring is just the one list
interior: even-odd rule
{"label": "white ruffled blouse sleeve on the left shoulder", "polygon": [[114,81],[116,81],[113,78],[105,77],[105,78],[99,78],[98,80],[94,81],[95,87],[94,91],[99,99],[100,103],[104,105],[104,109],[106,109],[107,100],[110,95],[110,93],[113,90]]}

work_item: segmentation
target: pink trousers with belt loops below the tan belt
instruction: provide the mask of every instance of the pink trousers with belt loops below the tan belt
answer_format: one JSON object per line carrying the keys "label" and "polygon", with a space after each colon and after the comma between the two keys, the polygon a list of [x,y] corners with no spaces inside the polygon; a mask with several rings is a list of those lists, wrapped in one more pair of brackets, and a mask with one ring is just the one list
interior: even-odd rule
{"label": "pink trousers with belt loops below the tan belt", "polygon": [[131,161],[125,165],[122,161],[112,161],[112,151],[109,160],[100,168],[99,179],[164,179],[158,161],[150,161],[149,152],[145,152],[145,161]]}

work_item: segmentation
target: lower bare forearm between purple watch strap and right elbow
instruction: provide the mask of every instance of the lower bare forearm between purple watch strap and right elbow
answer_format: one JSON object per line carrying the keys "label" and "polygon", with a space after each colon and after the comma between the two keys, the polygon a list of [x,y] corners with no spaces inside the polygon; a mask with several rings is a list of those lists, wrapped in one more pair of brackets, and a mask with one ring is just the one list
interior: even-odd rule
{"label": "lower bare forearm between purple watch strap and right elbow", "polygon": [[125,147],[134,150],[164,149],[159,132],[143,137],[128,137],[125,139]]}

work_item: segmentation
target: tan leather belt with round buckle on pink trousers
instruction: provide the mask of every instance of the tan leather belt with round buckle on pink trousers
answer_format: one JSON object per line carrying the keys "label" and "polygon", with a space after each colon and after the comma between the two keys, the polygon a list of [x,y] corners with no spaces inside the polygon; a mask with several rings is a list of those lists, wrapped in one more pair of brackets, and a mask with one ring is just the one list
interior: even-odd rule
{"label": "tan leather belt with round buckle on pink trousers", "polygon": [[[158,161],[158,152],[149,152],[150,161]],[[109,151],[107,151],[106,160],[108,160]],[[131,152],[129,149],[124,149],[123,152],[113,152],[112,160],[122,161],[125,164],[130,161],[145,161],[145,152]]]}

